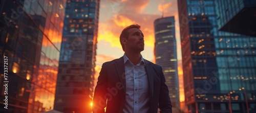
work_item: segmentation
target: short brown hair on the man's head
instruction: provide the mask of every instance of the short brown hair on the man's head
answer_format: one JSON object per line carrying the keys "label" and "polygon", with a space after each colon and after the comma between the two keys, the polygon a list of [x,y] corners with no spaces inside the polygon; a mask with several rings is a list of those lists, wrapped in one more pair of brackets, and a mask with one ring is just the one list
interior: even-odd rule
{"label": "short brown hair on the man's head", "polygon": [[140,29],[140,26],[139,25],[130,25],[130,26],[127,26],[126,28],[124,28],[123,29],[123,31],[122,31],[122,33],[120,34],[120,43],[121,43],[121,46],[122,46],[122,49],[123,49],[123,51],[124,51],[124,46],[123,46],[123,43],[122,43],[122,38],[126,38],[126,39],[128,39],[128,30],[129,29],[132,29],[132,28],[137,28],[137,29]]}

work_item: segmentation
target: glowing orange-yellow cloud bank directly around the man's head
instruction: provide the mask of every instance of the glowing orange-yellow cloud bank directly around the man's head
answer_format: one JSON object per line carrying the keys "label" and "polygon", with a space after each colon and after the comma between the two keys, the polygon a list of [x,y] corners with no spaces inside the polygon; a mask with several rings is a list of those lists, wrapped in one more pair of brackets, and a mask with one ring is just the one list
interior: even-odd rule
{"label": "glowing orange-yellow cloud bank directly around the man's head", "polygon": [[[112,19],[105,20],[106,22],[99,25],[98,41],[105,40],[111,43],[112,47],[121,48],[119,36],[121,31],[132,24],[139,24],[141,31],[144,34],[145,46],[154,48],[154,20],[160,15],[151,14],[118,14]],[[111,27],[111,28],[110,28]]]}

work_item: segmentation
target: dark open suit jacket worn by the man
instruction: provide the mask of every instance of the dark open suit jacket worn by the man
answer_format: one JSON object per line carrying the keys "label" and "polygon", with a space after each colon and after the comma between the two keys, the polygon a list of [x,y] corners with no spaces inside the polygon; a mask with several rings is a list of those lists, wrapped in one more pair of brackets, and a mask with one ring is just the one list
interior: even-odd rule
{"label": "dark open suit jacket worn by the man", "polygon": [[[162,113],[172,113],[172,104],[162,67],[145,59],[144,63],[150,88],[148,112],[157,113],[159,107]],[[123,57],[103,63],[95,87],[93,112],[121,113],[125,102],[125,85]]]}

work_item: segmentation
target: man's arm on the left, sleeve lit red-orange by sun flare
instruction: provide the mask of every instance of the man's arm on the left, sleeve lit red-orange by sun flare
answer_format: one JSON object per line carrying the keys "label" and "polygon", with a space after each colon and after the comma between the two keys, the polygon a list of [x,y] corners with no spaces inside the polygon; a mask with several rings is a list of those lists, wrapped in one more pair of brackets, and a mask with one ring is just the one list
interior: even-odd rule
{"label": "man's arm on the left, sleeve lit red-orange by sun flare", "polygon": [[102,113],[105,112],[106,107],[106,98],[105,95],[108,92],[108,79],[106,76],[106,67],[104,63],[101,66],[101,70],[99,73],[97,85],[95,87],[94,96],[93,96],[93,113]]}

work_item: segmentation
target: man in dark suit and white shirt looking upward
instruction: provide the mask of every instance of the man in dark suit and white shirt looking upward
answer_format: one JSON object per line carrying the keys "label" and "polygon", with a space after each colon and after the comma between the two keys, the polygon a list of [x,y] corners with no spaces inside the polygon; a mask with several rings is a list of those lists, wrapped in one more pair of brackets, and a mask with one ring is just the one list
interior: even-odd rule
{"label": "man in dark suit and white shirt looking upward", "polygon": [[[144,35],[139,25],[123,29],[124,55],[102,64],[93,98],[93,112],[172,113],[162,67],[143,59]],[[104,109],[106,107],[106,109]]]}

